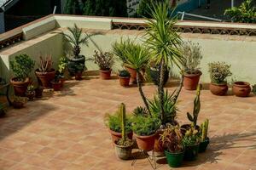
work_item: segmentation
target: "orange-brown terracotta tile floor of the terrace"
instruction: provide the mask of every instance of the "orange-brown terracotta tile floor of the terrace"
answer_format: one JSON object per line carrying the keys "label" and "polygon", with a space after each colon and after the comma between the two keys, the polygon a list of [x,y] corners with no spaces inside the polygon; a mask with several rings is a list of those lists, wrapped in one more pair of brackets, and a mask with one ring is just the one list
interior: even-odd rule
{"label": "orange-brown terracotta tile floor of the terrace", "polygon": [[[170,91],[174,88],[170,83]],[[148,97],[154,85],[143,87]],[[116,79],[87,78],[66,82],[59,93],[46,92],[44,99],[27,103],[21,110],[10,109],[0,119],[0,169],[64,170],[150,170],[147,159],[119,161],[104,126],[106,112],[124,102],[128,111],[142,104],[136,87],[120,88]],[[195,92],[183,90],[178,119],[187,122]],[[210,119],[211,144],[197,161],[184,162],[178,169],[256,170],[256,97],[218,97],[201,92],[199,122]],[[157,168],[170,169],[163,159]]]}

